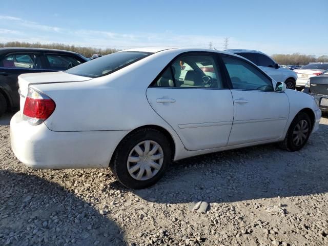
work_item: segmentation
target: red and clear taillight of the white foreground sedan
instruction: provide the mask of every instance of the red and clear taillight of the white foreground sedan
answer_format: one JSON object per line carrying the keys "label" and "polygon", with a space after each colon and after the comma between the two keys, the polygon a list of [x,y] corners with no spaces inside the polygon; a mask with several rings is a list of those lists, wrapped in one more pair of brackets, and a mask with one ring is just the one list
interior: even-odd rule
{"label": "red and clear taillight of the white foreground sedan", "polygon": [[38,125],[49,118],[55,108],[56,104],[50,97],[29,88],[24,104],[23,119],[31,125]]}

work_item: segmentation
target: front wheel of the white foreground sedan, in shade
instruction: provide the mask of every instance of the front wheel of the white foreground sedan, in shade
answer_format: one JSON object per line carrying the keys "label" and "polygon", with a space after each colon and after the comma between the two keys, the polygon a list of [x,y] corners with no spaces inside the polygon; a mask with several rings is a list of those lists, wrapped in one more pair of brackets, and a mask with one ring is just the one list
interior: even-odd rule
{"label": "front wheel of the white foreground sedan, in shade", "polygon": [[309,115],[304,112],[298,113],[293,119],[286,137],[280,143],[280,146],[288,151],[302,149],[310,137],[311,130],[312,123]]}

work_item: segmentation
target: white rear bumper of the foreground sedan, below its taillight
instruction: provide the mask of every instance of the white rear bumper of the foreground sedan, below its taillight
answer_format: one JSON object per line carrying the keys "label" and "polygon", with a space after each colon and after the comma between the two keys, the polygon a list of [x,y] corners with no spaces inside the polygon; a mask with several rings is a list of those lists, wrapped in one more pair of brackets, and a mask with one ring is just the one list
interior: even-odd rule
{"label": "white rear bumper of the foreground sedan, below its taillight", "polygon": [[107,168],[129,131],[54,132],[31,126],[16,113],[10,121],[11,147],[26,166],[37,169]]}

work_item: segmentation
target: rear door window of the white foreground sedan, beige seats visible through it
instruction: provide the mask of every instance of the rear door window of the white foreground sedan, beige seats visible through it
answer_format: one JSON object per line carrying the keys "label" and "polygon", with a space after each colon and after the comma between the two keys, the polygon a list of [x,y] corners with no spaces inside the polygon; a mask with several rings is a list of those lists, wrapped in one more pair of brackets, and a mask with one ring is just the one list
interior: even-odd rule
{"label": "rear door window of the white foreground sedan, beige seats visible through it", "polygon": [[215,58],[197,54],[182,55],[175,59],[151,86],[223,88]]}

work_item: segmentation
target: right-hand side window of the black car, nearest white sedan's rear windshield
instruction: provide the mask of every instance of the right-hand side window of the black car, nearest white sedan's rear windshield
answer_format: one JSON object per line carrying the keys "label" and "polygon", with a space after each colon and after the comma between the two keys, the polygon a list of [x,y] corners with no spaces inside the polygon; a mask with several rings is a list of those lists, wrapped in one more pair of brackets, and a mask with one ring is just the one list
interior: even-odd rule
{"label": "right-hand side window of the black car, nearest white sedan's rear windshield", "polygon": [[67,70],[81,64],[81,61],[68,55],[46,55],[49,68],[53,70]]}

